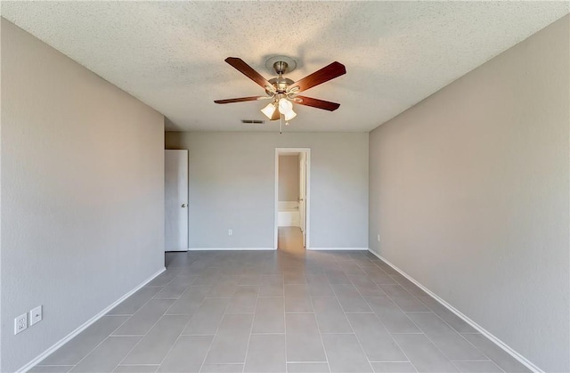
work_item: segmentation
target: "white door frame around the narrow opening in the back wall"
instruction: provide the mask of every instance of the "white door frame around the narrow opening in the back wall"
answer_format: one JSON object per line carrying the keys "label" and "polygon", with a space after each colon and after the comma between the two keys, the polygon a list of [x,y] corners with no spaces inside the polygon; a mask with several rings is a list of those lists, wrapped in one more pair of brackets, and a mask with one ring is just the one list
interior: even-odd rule
{"label": "white door frame around the narrow opening in the back wall", "polygon": [[279,156],[287,153],[304,152],[306,155],[306,177],[305,177],[305,250],[309,250],[311,243],[311,148],[275,148],[275,196],[273,198],[273,247],[277,250],[279,226]]}

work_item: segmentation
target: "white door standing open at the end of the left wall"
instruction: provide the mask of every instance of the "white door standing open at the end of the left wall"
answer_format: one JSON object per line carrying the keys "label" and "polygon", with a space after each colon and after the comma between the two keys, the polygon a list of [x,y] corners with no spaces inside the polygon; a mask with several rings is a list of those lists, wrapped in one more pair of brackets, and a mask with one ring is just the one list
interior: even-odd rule
{"label": "white door standing open at the end of the left wall", "polygon": [[188,150],[165,150],[165,251],[188,250]]}

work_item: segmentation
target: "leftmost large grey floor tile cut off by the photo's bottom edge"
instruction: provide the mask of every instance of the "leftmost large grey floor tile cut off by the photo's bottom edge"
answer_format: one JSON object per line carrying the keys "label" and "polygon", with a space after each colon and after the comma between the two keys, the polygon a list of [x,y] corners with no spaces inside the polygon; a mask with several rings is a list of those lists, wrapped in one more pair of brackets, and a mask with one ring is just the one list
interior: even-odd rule
{"label": "leftmost large grey floor tile cut off by the photo's bottom edge", "polygon": [[141,337],[108,337],[70,372],[112,372]]}

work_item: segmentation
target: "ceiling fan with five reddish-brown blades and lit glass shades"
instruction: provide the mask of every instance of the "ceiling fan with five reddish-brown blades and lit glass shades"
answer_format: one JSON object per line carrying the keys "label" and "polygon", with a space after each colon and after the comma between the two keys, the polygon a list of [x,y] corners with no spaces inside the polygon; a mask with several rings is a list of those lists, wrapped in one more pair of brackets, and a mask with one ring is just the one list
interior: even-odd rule
{"label": "ceiling fan with five reddish-brown blades and lit glass shades", "polygon": [[336,102],[323,101],[298,94],[309,88],[313,88],[315,85],[321,85],[335,77],[340,77],[341,75],[346,74],[345,65],[337,61],[315,71],[313,74],[297,80],[297,82],[294,82],[287,77],[283,77],[283,74],[290,72],[297,67],[297,63],[286,56],[275,56],[267,60],[267,67],[273,67],[275,73],[278,75],[278,77],[273,77],[269,80],[262,77],[261,74],[259,74],[255,69],[252,69],[240,58],[228,57],[224,61],[232,65],[233,68],[240,71],[246,77],[256,82],[257,85],[264,88],[267,95],[216,100],[214,101],[216,103],[271,100],[271,102],[265,106],[264,109],[261,109],[261,111],[270,120],[284,118],[287,121],[286,125],[289,124],[290,119],[297,116],[297,113],[293,111],[292,102],[298,103],[299,105],[311,106],[313,108],[329,111],[334,111],[340,106],[340,104]]}

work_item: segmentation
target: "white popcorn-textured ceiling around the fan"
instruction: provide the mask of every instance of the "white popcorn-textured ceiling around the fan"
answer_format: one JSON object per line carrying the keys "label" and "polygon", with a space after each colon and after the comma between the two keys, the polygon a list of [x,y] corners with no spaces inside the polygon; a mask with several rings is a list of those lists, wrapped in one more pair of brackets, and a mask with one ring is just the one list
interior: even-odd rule
{"label": "white popcorn-textured ceiling around the fan", "polygon": [[297,80],[332,61],[345,76],[305,95],[287,131],[370,131],[568,12],[568,2],[3,2],[2,16],[159,110],[169,130],[272,130],[263,94],[224,62],[297,61]]}

